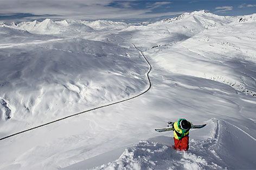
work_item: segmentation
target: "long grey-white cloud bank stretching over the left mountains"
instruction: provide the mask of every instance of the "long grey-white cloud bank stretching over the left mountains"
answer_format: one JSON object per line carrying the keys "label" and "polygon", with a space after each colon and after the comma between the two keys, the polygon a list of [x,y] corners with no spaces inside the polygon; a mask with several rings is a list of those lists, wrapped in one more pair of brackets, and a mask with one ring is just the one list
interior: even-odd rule
{"label": "long grey-white cloud bank stretching over the left mountains", "polygon": [[[153,8],[132,9],[130,2],[116,2],[120,7],[112,6],[114,0],[82,1],[40,1],[40,0],[0,0],[0,13],[31,13],[33,15],[55,15],[54,18],[70,19],[127,19],[151,18],[178,15],[184,11],[152,13]],[[132,2],[132,1],[131,1]],[[155,6],[171,2],[156,2]]]}

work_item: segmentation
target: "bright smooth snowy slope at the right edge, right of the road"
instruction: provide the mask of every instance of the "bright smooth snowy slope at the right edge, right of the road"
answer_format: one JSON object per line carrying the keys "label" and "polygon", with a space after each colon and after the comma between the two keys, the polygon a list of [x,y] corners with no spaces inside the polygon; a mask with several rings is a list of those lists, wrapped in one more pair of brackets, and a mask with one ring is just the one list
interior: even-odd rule
{"label": "bright smooth snowy slope at the right edge, right of the road", "polygon": [[256,96],[255,29],[255,22],[238,23],[236,20],[202,31],[170,49],[157,51],[157,54],[153,52],[153,58],[172,72],[220,81],[242,93]]}

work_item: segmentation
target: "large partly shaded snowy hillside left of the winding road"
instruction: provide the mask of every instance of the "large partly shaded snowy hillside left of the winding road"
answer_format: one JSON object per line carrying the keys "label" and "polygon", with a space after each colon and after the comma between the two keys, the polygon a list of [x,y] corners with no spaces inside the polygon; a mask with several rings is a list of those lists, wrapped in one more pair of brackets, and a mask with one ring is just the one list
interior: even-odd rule
{"label": "large partly shaded snowy hillside left of the winding road", "polygon": [[[17,32],[23,36],[23,31]],[[71,111],[129,97],[146,86],[148,66],[131,44],[133,51],[78,38],[48,36],[42,40],[36,35],[31,40],[31,34],[25,33],[27,42],[0,46],[0,97],[11,110],[3,111],[2,119],[11,114],[12,121],[36,125]],[[5,39],[16,39],[16,35]],[[0,126],[1,133],[5,132],[6,126]]]}

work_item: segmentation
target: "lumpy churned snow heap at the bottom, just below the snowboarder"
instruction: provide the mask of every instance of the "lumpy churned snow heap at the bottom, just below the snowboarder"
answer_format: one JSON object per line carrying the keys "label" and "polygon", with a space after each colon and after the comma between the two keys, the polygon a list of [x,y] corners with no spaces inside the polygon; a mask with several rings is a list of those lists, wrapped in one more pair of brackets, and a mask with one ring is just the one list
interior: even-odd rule
{"label": "lumpy churned snow heap at the bottom, just below the snowboarder", "polygon": [[[120,158],[98,169],[202,169],[220,168],[193,153],[177,152],[170,146],[152,141],[140,141],[125,149]],[[96,168],[97,169],[97,168]]]}

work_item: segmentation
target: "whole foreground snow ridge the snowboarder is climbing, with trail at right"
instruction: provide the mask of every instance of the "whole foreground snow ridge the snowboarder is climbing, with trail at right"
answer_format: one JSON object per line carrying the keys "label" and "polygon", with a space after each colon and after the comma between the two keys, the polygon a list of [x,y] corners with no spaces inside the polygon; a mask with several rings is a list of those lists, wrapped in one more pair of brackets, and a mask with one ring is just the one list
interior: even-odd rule
{"label": "whole foreground snow ridge the snowboarder is climbing, with trail at right", "polygon": [[[170,137],[139,141],[125,149],[116,161],[96,169],[223,169],[253,168],[256,140],[224,120],[210,119],[201,130],[190,132],[188,152],[175,151]],[[199,138],[199,139],[197,139]]]}

